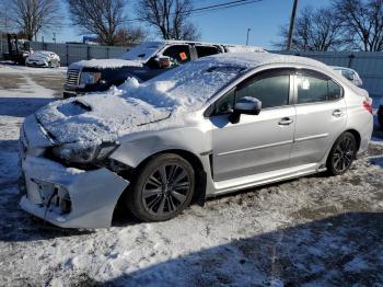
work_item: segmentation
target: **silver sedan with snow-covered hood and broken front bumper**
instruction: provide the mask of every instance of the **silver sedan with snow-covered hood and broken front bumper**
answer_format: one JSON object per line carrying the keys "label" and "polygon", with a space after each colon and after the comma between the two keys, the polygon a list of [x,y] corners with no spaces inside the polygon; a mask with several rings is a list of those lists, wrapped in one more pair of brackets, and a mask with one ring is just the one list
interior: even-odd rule
{"label": "silver sedan with snow-covered hood and broken front bumper", "polygon": [[68,228],[111,226],[117,203],[143,221],[167,220],[207,197],[343,174],[372,123],[368,93],[318,61],[206,57],[30,116],[21,206]]}

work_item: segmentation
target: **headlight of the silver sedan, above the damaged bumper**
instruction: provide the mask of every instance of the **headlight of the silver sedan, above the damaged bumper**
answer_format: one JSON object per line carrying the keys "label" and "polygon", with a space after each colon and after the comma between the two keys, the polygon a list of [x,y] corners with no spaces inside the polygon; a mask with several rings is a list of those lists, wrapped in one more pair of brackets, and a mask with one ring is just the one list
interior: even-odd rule
{"label": "headlight of the silver sedan, above the damaged bumper", "polygon": [[74,142],[54,147],[51,152],[66,162],[86,164],[106,159],[118,146],[118,142]]}

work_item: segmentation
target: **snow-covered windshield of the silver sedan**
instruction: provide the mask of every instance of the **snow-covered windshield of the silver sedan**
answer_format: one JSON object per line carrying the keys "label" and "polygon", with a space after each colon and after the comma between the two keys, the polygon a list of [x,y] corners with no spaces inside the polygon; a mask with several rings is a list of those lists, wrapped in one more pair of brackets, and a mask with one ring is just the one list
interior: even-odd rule
{"label": "snow-covered windshield of the silver sedan", "polygon": [[120,88],[125,90],[126,96],[139,99],[156,107],[185,107],[187,111],[196,111],[245,69],[241,65],[205,57],[141,84],[130,79]]}

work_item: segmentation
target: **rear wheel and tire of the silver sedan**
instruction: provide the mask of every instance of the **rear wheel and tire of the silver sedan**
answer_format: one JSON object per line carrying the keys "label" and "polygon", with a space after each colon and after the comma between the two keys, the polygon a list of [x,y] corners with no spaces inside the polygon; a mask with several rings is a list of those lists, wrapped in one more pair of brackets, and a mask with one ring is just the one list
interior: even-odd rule
{"label": "rear wheel and tire of the silver sedan", "polygon": [[344,174],[352,164],[358,151],[358,145],[351,133],[341,134],[335,141],[327,158],[327,172],[329,175]]}

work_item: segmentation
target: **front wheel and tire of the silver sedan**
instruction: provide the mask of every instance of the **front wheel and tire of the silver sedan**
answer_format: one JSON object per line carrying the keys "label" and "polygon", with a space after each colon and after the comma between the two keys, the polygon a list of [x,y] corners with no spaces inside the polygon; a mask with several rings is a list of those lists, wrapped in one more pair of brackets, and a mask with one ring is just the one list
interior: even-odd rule
{"label": "front wheel and tire of the silver sedan", "polygon": [[173,153],[160,154],[140,170],[126,203],[142,221],[169,220],[190,204],[195,183],[195,171],[188,161]]}

